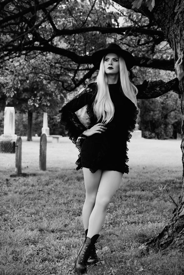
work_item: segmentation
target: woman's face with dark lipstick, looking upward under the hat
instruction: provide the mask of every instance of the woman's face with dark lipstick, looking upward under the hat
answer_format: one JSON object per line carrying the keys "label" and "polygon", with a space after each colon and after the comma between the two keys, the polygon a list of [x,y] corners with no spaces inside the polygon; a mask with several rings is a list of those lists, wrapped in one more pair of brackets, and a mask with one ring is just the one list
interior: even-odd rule
{"label": "woman's face with dark lipstick, looking upward under the hat", "polygon": [[119,73],[119,57],[115,53],[108,53],[104,59],[104,68],[106,74]]}

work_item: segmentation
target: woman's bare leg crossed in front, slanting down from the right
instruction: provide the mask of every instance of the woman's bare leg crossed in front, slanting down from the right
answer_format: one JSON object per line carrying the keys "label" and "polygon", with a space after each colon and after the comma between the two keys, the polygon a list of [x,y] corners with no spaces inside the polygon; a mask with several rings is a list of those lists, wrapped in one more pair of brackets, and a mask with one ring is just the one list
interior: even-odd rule
{"label": "woman's bare leg crossed in front, slanting down from the right", "polygon": [[107,206],[120,186],[123,173],[118,171],[102,171],[102,176],[96,195],[95,206],[89,218],[87,237],[99,234],[106,217]]}

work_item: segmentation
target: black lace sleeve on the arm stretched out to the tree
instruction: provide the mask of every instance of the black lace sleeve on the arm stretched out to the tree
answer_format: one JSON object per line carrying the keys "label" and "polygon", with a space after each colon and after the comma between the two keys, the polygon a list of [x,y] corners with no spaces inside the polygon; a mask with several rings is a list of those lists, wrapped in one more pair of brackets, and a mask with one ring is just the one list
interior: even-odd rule
{"label": "black lace sleeve on the arm stretched out to the tree", "polygon": [[161,79],[158,81],[144,80],[143,84],[136,85],[136,87],[138,89],[137,99],[156,98],[171,90],[180,94],[179,80],[177,77],[168,82],[164,82]]}

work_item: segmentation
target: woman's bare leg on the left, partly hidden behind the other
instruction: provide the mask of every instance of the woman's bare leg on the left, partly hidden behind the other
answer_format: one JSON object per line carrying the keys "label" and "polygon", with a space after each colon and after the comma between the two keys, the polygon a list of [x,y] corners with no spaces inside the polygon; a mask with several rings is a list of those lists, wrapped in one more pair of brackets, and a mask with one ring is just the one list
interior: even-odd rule
{"label": "woman's bare leg on the left, partly hidden behind the other", "polygon": [[102,170],[99,169],[95,173],[92,173],[89,168],[83,167],[82,169],[86,189],[86,198],[82,209],[82,220],[84,229],[86,230],[88,229],[89,217],[95,205],[96,194],[98,192]]}

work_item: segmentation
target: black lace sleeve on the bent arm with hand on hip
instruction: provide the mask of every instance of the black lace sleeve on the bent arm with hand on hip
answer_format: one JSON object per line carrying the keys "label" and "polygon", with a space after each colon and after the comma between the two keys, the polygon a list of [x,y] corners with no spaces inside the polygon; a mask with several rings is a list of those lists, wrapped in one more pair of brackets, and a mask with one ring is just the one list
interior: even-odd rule
{"label": "black lace sleeve on the bent arm with hand on hip", "polygon": [[65,126],[68,131],[69,139],[75,144],[79,135],[87,128],[80,122],[76,111],[87,105],[92,97],[92,88],[85,86],[84,89],[74,96],[68,103],[63,106],[59,113],[61,113],[60,123]]}

